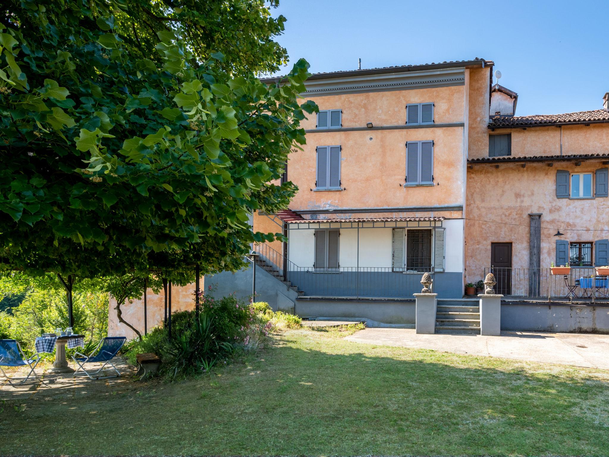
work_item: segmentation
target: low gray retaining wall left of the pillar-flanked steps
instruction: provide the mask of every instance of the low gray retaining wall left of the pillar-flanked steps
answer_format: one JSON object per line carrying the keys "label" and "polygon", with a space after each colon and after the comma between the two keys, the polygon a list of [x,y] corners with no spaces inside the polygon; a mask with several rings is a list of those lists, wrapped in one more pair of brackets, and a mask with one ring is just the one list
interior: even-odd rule
{"label": "low gray retaining wall left of the pillar-flanked steps", "polygon": [[300,317],[356,317],[384,324],[414,324],[414,300],[333,300],[298,299],[296,314]]}

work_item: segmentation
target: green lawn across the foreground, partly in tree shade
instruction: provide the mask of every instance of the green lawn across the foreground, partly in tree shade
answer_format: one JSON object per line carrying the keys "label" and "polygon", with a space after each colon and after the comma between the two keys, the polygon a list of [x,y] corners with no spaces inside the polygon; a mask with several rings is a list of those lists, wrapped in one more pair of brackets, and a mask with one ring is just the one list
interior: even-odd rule
{"label": "green lawn across the foreground, partly in tree shade", "polygon": [[174,384],[0,392],[0,455],[609,455],[609,372],[343,336]]}

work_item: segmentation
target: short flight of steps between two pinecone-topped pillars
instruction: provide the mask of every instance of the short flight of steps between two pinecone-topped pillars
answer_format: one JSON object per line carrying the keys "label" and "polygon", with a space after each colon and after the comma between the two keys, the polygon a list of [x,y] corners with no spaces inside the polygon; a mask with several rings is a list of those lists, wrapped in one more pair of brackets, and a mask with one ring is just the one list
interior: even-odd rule
{"label": "short flight of steps between two pinecone-topped pillars", "polygon": [[480,335],[478,299],[438,299],[435,333]]}

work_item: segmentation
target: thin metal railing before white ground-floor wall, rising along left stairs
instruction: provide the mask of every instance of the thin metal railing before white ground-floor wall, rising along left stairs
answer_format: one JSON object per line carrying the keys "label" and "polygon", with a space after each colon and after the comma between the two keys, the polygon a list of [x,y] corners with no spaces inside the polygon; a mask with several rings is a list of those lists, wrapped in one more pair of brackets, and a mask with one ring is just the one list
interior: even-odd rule
{"label": "thin metal railing before white ground-floor wall, rising along left stairs", "polygon": [[[434,272],[428,266],[399,271],[392,267],[301,267],[267,244],[256,243],[254,250],[267,271],[280,274],[305,296],[413,299],[412,294],[421,291],[424,272],[429,272],[434,279]],[[433,283],[431,287],[433,289]]]}

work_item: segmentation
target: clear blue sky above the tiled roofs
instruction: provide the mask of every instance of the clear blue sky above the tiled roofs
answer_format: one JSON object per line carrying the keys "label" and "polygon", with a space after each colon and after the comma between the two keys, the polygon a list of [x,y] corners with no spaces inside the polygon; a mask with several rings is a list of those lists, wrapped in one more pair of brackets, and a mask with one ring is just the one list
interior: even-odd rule
{"label": "clear blue sky above the tiled roofs", "polygon": [[281,0],[279,14],[279,43],[312,73],[481,57],[517,116],[600,109],[609,91],[609,1]]}

